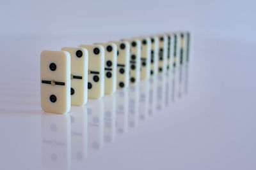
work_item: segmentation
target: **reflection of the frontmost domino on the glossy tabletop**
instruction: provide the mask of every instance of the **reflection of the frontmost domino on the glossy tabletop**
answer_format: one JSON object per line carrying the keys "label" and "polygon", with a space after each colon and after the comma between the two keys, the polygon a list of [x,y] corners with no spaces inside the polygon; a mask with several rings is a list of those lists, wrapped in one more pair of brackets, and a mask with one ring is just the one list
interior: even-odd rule
{"label": "reflection of the frontmost domino on the glossy tabletop", "polygon": [[42,162],[47,169],[70,169],[70,116],[43,113]]}

